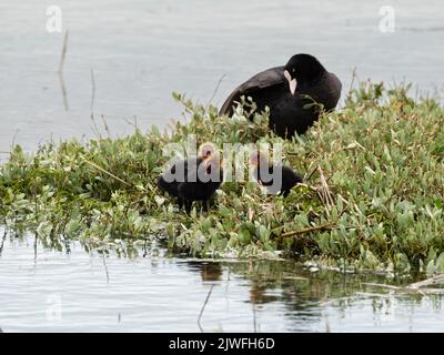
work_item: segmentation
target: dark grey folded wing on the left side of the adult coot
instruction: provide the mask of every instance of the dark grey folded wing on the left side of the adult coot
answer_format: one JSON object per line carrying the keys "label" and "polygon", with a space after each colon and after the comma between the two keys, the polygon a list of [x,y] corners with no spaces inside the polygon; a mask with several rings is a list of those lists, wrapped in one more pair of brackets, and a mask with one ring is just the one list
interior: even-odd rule
{"label": "dark grey folded wing on the left side of the adult coot", "polygon": [[262,71],[255,74],[253,78],[245,81],[243,84],[239,85],[231,95],[225,100],[219,114],[233,114],[233,106],[236,102],[241,101],[242,95],[250,95],[256,90],[279,85],[285,81],[284,67],[271,68],[269,70]]}

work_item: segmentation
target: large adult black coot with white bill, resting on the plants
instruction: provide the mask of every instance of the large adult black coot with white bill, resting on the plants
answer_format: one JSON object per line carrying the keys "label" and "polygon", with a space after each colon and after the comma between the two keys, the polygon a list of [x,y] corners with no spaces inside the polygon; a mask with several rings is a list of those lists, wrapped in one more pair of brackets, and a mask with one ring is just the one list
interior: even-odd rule
{"label": "large adult black coot with white bill, resting on the plants", "polygon": [[[219,114],[232,115],[241,97],[251,97],[258,112],[270,108],[270,129],[282,138],[303,134],[319,119],[320,105],[333,110],[342,84],[310,54],[295,54],[284,67],[276,67],[238,87],[225,100]],[[311,98],[311,99],[310,99]]]}

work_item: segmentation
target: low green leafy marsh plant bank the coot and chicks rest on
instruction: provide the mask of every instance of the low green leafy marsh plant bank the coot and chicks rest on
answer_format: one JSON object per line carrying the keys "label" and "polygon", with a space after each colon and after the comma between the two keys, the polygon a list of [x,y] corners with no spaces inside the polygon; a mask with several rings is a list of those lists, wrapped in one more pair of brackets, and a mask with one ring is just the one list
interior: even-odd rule
{"label": "low green leafy marsh plant bank the coot and chicks rest on", "polygon": [[[408,88],[361,83],[344,108],[323,114],[310,131],[282,140],[268,113],[241,106],[233,119],[180,94],[186,123],[164,133],[13,146],[0,170],[1,223],[63,248],[162,240],[196,256],[296,257],[305,262],[385,271],[444,271],[444,110],[413,100]],[[225,182],[214,205],[190,215],[161,194],[157,180],[184,144],[282,144],[283,162],[304,174],[287,197],[252,182]],[[225,169],[225,166],[224,166]]]}

